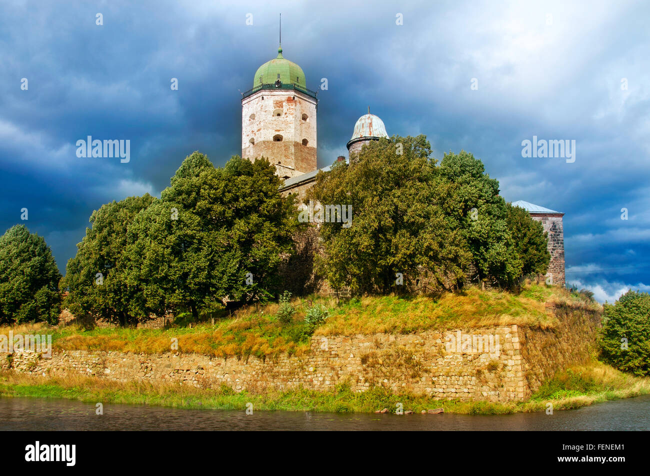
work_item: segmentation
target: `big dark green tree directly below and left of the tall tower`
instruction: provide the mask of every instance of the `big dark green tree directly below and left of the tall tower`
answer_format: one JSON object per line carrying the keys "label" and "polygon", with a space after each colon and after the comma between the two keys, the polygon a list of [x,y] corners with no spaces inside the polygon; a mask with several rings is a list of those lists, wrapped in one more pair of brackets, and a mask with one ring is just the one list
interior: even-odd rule
{"label": "big dark green tree directly below and left of the tall tower", "polygon": [[235,156],[214,168],[201,153],[187,157],[129,229],[125,281],[142,290],[132,312],[198,318],[268,295],[296,221],[274,171],[267,160]]}

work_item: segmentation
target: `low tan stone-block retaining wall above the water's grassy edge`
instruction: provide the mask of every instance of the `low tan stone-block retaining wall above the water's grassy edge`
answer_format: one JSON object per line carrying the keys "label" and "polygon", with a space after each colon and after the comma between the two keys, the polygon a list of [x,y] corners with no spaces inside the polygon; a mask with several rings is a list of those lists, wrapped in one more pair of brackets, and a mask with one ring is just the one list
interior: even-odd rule
{"label": "low tan stone-block retaining wall above the water's grassy edge", "polygon": [[[55,351],[52,358],[14,353],[0,369],[31,375],[90,375],[118,382],[191,385],[261,393],[303,387],[333,390],[347,382],[355,392],[374,386],[394,393],[426,394],[437,399],[521,401],[556,370],[590,355],[599,325],[593,311],[556,310],[560,325],[539,329],[505,325],[414,334],[313,336],[300,357],[223,358],[164,353]],[[459,349],[449,335],[492,336],[500,351],[475,345]],[[480,341],[479,341],[480,342]],[[460,350],[460,351],[458,351]],[[493,350],[493,349],[492,349]]]}

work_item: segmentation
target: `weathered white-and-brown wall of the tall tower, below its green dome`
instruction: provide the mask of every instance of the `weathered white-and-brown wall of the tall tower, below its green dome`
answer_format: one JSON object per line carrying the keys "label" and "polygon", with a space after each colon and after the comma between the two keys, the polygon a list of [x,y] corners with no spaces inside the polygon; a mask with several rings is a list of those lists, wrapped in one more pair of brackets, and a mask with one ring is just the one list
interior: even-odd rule
{"label": "weathered white-and-brown wall of the tall tower, below its green dome", "polygon": [[[268,158],[279,177],[315,170],[316,111],[316,99],[297,90],[259,90],[242,99],[242,157]],[[276,135],[281,142],[274,141]]]}

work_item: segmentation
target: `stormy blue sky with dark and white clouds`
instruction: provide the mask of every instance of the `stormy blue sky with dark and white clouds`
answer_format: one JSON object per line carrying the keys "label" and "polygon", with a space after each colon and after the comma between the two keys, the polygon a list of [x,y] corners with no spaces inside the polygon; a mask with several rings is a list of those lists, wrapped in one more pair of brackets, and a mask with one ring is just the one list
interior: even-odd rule
{"label": "stormy blue sky with dark and white clouds", "polygon": [[[64,271],[92,210],[160,195],[192,151],[239,154],[238,90],[277,55],[281,13],[285,58],[328,80],[318,166],[370,105],[435,157],[471,151],[508,201],[564,212],[567,281],[601,302],[648,291],[650,6],[566,4],[4,0],[0,228],[26,223]],[[86,136],[129,139],[130,162],[78,158]],[[575,162],[522,157],[533,136],[575,140]]]}

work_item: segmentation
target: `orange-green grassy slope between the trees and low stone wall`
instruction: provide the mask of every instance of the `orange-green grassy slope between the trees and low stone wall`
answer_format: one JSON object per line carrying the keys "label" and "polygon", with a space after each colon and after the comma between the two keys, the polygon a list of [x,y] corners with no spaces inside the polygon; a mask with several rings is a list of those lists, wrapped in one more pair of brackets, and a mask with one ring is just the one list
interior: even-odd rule
{"label": "orange-green grassy slope between the trees and low stone wall", "polygon": [[168,329],[119,329],[78,325],[46,328],[23,325],[0,328],[0,334],[53,335],[55,350],[98,350],[134,353],[170,351],[172,338],[178,351],[216,356],[258,357],[287,352],[300,355],[309,349],[311,332],[304,325],[307,309],[315,304],[328,308],[329,318],[315,330],[319,335],[354,335],[376,332],[410,333],[428,329],[484,327],[491,325],[534,325],[553,327],[554,316],[547,303],[567,303],[574,307],[599,308],[597,303],[560,288],[526,284],[519,294],[467,288],[441,297],[396,295],[362,297],[337,303],[328,297],[294,299],[296,314],[291,323],[281,323],[278,304],[251,306],[211,323],[172,323]]}

